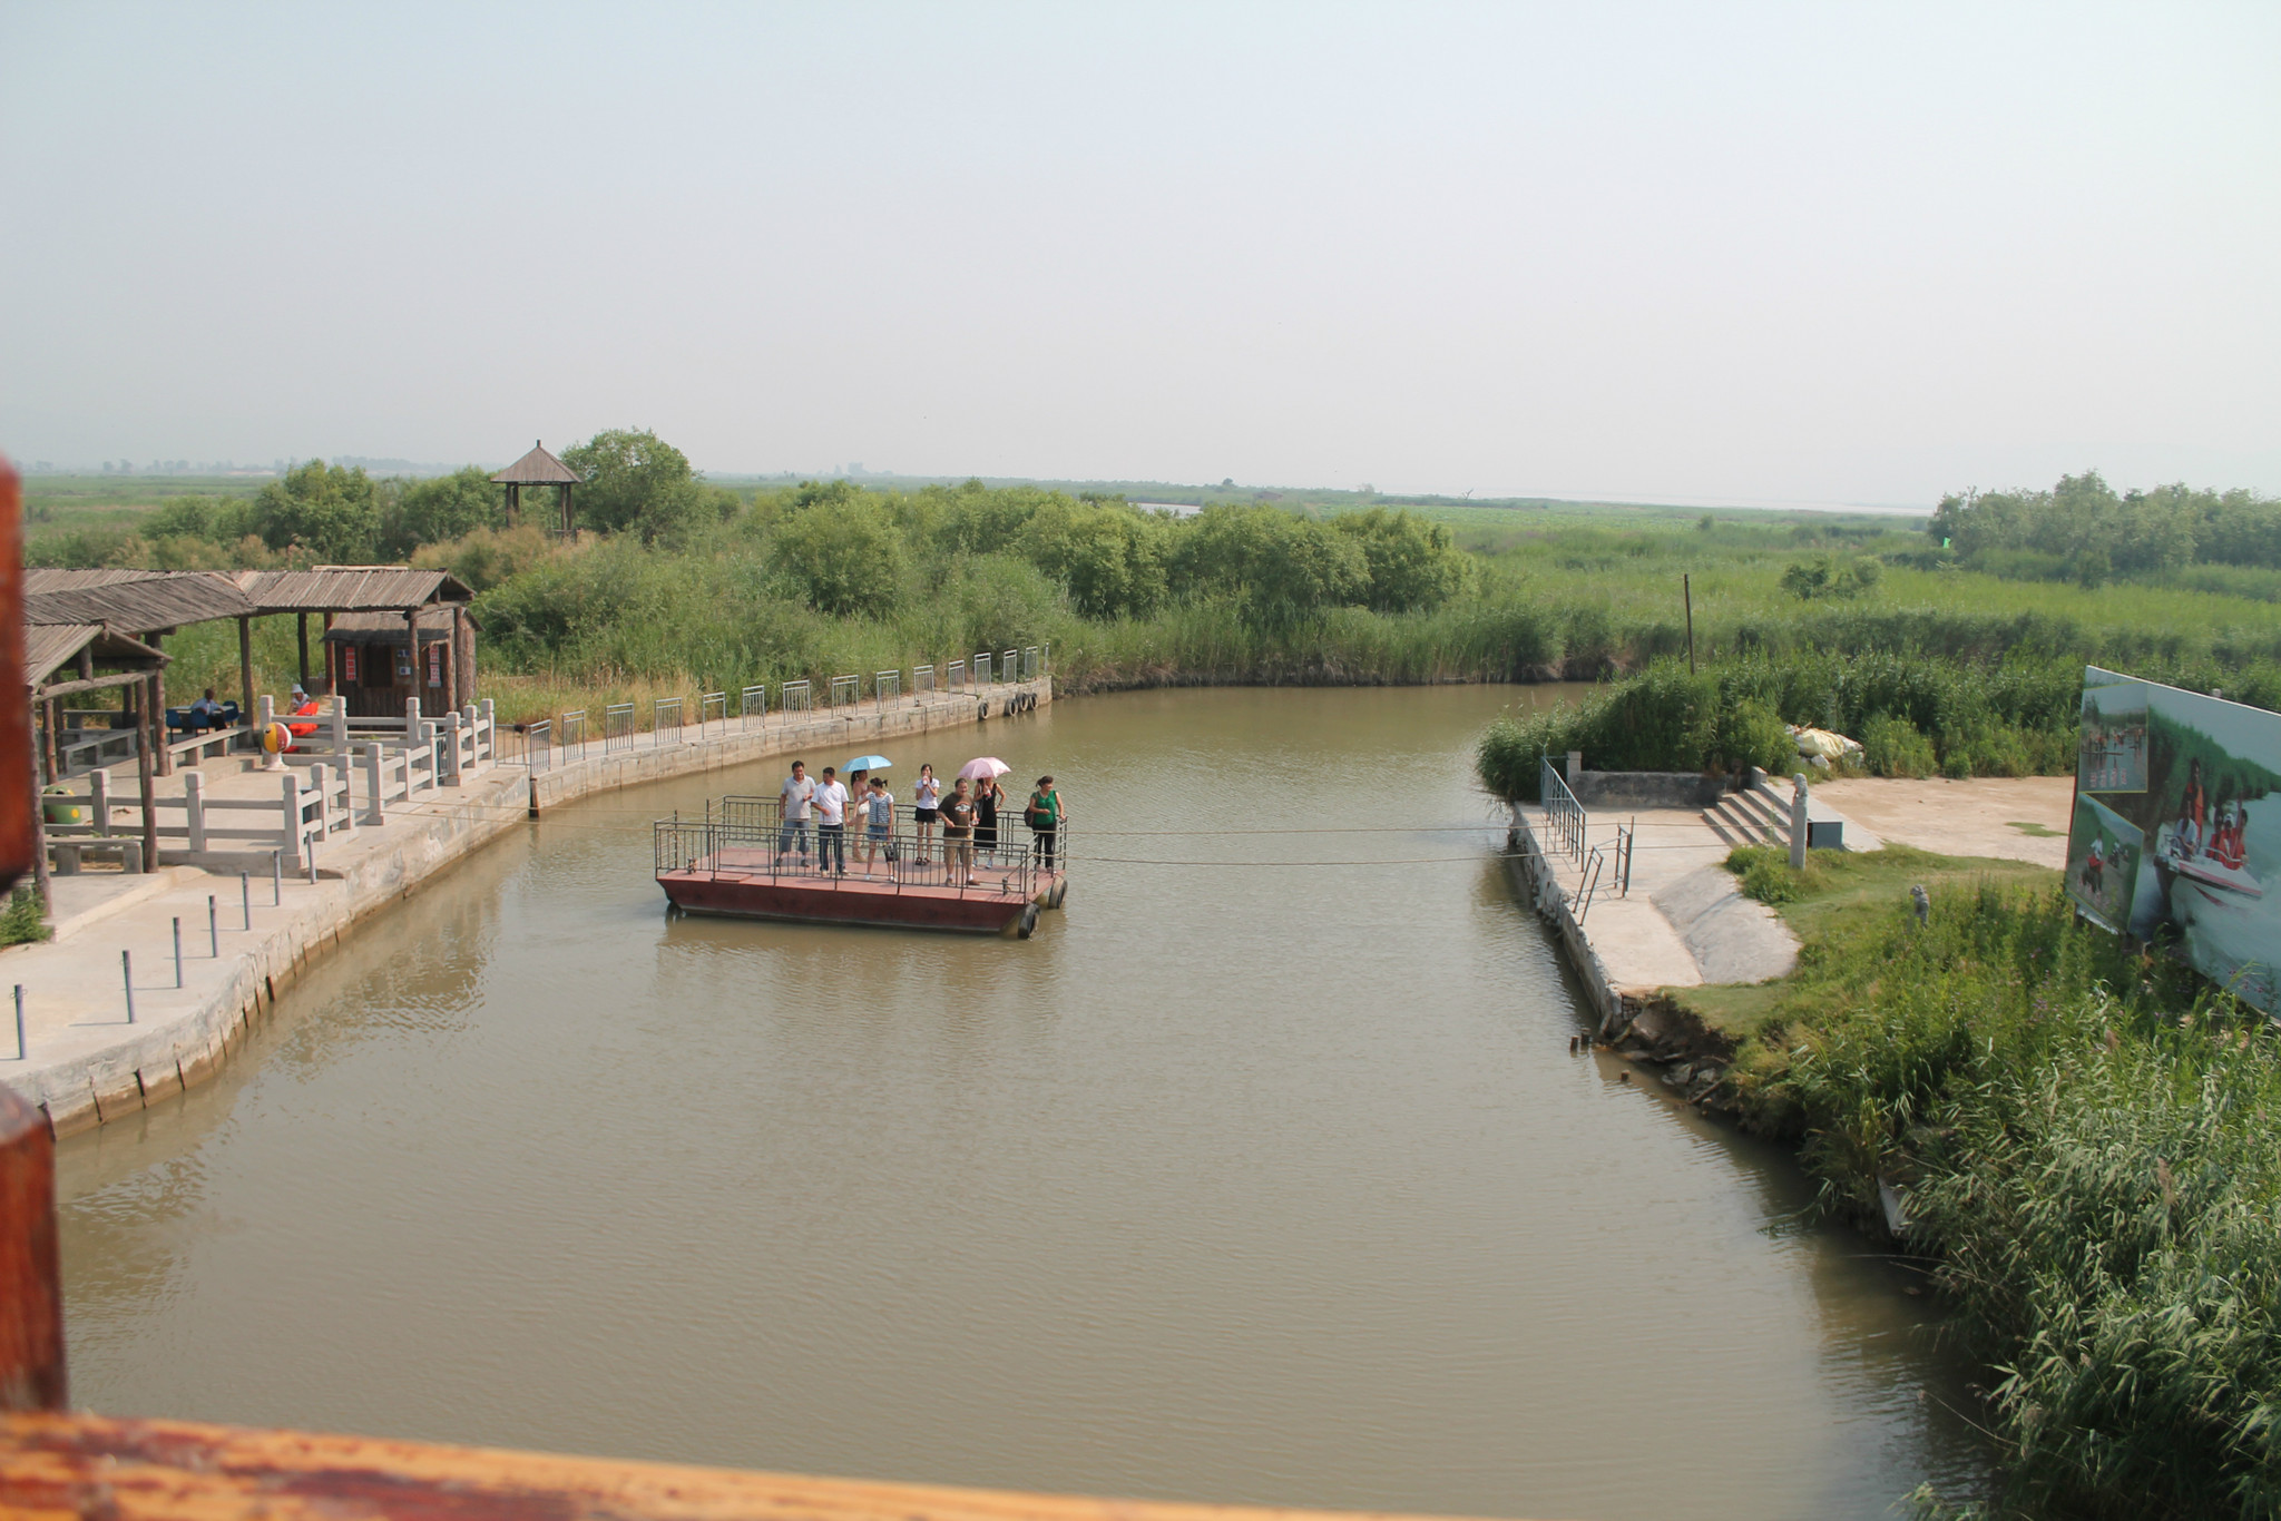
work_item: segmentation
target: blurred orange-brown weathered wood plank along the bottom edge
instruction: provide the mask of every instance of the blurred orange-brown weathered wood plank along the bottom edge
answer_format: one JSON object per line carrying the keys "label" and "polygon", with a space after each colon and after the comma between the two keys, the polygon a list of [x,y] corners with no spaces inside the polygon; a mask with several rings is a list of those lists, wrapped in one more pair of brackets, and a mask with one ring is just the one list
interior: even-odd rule
{"label": "blurred orange-brown weathered wood plank along the bottom edge", "polygon": [[317,1437],[189,1421],[0,1416],[0,1512],[224,1521],[1364,1521]]}

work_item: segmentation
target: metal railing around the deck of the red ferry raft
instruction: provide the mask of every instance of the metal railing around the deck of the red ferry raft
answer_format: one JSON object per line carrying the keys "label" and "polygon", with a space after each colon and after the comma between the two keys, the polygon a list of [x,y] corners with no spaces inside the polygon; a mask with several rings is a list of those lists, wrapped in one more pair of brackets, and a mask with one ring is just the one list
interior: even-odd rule
{"label": "metal railing around the deck of the red ferry raft", "polygon": [[705,812],[705,819],[675,816],[652,825],[657,871],[1029,898],[1047,871],[1065,867],[1070,848],[1063,825],[1052,835],[1049,860],[1047,841],[1020,816],[1001,816],[992,835],[976,828],[974,837],[951,839],[940,828],[922,832],[910,823],[874,837],[853,805],[851,823],[837,837],[814,814],[785,823],[776,798],[728,796],[719,805],[707,803]]}

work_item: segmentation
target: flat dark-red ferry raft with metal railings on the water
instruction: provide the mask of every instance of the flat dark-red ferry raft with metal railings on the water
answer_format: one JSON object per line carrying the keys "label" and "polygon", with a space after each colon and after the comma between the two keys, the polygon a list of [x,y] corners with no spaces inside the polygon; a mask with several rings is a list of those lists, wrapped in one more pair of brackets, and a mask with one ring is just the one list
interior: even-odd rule
{"label": "flat dark-red ferry raft with metal railings on the water", "polygon": [[814,823],[785,828],[776,798],[728,796],[705,819],[659,819],[657,885],[687,914],[787,919],[798,924],[878,924],[910,930],[963,930],[1029,940],[1045,910],[1070,896],[1056,830],[1047,860],[1040,839],[1015,816],[999,816],[997,846],[976,844],[972,871],[953,860],[942,832],[919,839],[896,825],[864,860],[860,823],[846,832],[844,869],[823,869]]}

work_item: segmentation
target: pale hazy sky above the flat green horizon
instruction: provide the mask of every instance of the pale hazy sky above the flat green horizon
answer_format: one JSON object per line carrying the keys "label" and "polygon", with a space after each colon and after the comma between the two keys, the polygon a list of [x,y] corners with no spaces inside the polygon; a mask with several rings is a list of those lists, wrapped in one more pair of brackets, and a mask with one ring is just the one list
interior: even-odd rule
{"label": "pale hazy sky above the flat green horizon", "polygon": [[2274,5],[0,0],[0,449],[2281,493]]}

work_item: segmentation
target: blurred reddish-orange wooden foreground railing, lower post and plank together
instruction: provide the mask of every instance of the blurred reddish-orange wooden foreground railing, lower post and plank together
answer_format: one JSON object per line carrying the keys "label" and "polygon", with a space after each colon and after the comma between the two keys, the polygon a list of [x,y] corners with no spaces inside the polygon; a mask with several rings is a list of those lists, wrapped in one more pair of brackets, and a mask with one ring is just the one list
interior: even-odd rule
{"label": "blurred reddish-orange wooden foreground railing, lower post and plank together", "polygon": [[[356,1377],[340,1368],[340,1377]],[[1359,1521],[64,1414],[55,1140],[0,1088],[0,1514],[105,1521]]]}

